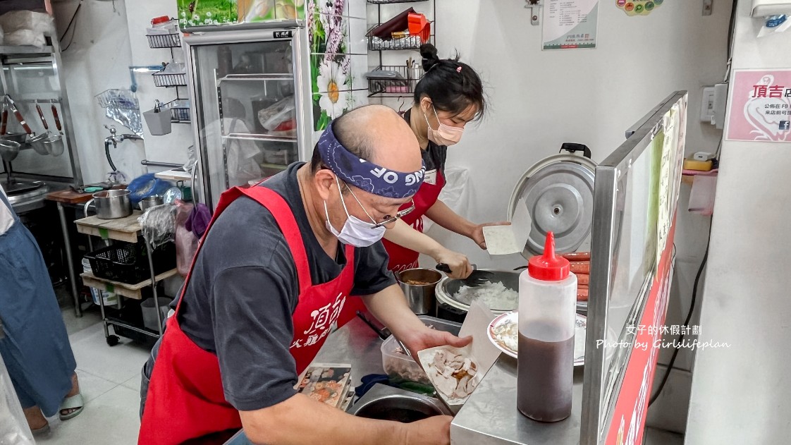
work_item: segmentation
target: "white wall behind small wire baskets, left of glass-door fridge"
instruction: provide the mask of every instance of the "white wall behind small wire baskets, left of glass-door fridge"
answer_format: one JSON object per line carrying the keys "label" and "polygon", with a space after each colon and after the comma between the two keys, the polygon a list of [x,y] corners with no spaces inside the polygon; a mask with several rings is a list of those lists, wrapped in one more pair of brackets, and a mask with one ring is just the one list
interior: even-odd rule
{"label": "white wall behind small wire baskets, left of glass-door fridge", "polygon": [[[55,2],[55,17],[59,33],[65,30],[74,14],[78,2]],[[131,133],[127,127],[104,117],[104,109],[97,104],[95,96],[105,89],[129,88],[131,65],[158,65],[171,59],[167,49],[151,49],[146,39],[146,27],[153,17],[176,16],[176,2],[136,0],[113,2],[85,0],[75,22],[74,42],[62,53],[66,89],[76,143],[79,150],[82,176],[86,183],[104,181],[110,171],[104,157],[104,138],[109,132],[104,124],[115,125],[118,134]],[[69,36],[62,43],[68,44]],[[176,48],[176,58],[181,49]],[[154,99],[165,103],[176,98],[175,89],[157,88],[150,74],[135,74],[138,83],[140,108],[153,108]],[[187,89],[181,88],[181,97],[187,97]],[[191,145],[192,133],[187,124],[173,124],[172,133],[152,136],[143,124],[145,142],[124,141],[111,148],[115,166],[131,181],[149,169],[140,162],[151,161],[184,163],[187,161],[187,146]],[[156,172],[162,168],[151,167]]]}

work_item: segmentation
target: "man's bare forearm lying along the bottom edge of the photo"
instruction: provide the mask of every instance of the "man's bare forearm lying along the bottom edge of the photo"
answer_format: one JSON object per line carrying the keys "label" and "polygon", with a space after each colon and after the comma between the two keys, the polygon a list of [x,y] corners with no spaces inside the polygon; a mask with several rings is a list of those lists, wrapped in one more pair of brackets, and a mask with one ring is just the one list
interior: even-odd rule
{"label": "man's bare forearm lying along the bottom edge of the photo", "polygon": [[304,394],[269,408],[239,412],[244,434],[261,445],[401,445],[450,443],[449,416],[411,424],[355,417]]}

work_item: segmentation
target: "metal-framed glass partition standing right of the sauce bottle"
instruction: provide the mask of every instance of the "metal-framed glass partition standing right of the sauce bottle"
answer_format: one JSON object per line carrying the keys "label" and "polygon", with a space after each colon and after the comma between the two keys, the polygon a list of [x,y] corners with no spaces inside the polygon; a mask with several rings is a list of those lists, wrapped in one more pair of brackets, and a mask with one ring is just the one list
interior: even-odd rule
{"label": "metal-framed glass partition standing right of the sauce bottle", "polygon": [[[650,297],[650,307],[659,307],[664,320],[666,302],[657,306],[656,301],[658,287],[666,283],[664,275],[669,270],[660,268],[660,258],[672,249],[686,103],[686,92],[662,101],[627,131],[626,142],[596,167],[583,445],[607,439]],[[649,360],[643,365],[652,371],[649,375],[656,366],[653,357],[652,352],[653,363]],[[647,401],[635,405],[645,407]],[[643,411],[636,409],[630,420],[637,421],[641,431]]]}

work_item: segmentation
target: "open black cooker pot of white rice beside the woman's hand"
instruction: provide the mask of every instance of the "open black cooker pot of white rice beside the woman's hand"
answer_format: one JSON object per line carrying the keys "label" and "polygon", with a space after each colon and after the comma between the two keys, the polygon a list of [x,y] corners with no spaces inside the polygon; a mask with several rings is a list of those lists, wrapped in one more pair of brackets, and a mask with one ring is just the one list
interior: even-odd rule
{"label": "open black cooker pot of white rice beside the woman's hand", "polygon": [[437,296],[437,318],[464,321],[473,301],[479,300],[494,314],[505,314],[516,310],[519,305],[519,273],[489,270],[494,276],[480,286],[469,287],[464,280],[445,277],[439,283]]}

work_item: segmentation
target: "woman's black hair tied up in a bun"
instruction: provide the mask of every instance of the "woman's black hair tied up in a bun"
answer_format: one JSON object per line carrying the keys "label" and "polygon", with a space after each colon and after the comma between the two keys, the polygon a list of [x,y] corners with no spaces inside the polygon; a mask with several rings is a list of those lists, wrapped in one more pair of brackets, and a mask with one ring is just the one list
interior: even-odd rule
{"label": "woman's black hair tied up in a bun", "polygon": [[422,44],[420,56],[425,74],[414,87],[416,104],[427,96],[437,110],[458,115],[472,105],[475,119],[483,116],[486,110],[483,85],[472,67],[459,62],[458,54],[452,59],[440,59],[433,44]]}

